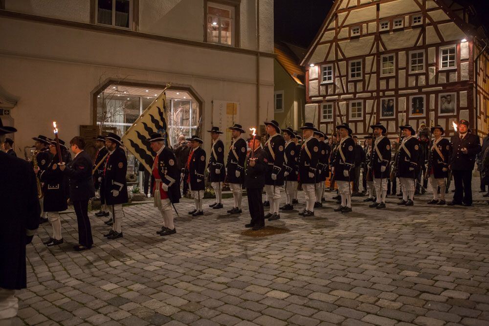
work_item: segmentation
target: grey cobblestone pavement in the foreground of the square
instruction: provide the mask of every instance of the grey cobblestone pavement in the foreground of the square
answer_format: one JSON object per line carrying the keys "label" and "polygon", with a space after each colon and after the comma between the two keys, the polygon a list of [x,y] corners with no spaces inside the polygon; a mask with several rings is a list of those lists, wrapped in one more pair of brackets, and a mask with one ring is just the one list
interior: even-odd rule
{"label": "grey cobblestone pavement in the foreground of the square", "polygon": [[95,246],[81,253],[72,250],[75,216],[65,214],[63,245],[42,244],[44,224],[27,247],[13,325],[489,325],[481,195],[474,188],[471,208],[427,205],[429,196],[400,207],[389,197],[383,211],[354,197],[348,215],[329,199],[315,217],[267,222],[290,232],[263,238],[242,235],[246,197],[239,217],[225,214],[232,199],[197,218],[183,200],[178,234],[166,238],[155,234],[156,209],[133,205],[123,239],[106,240],[105,218],[91,217]]}

